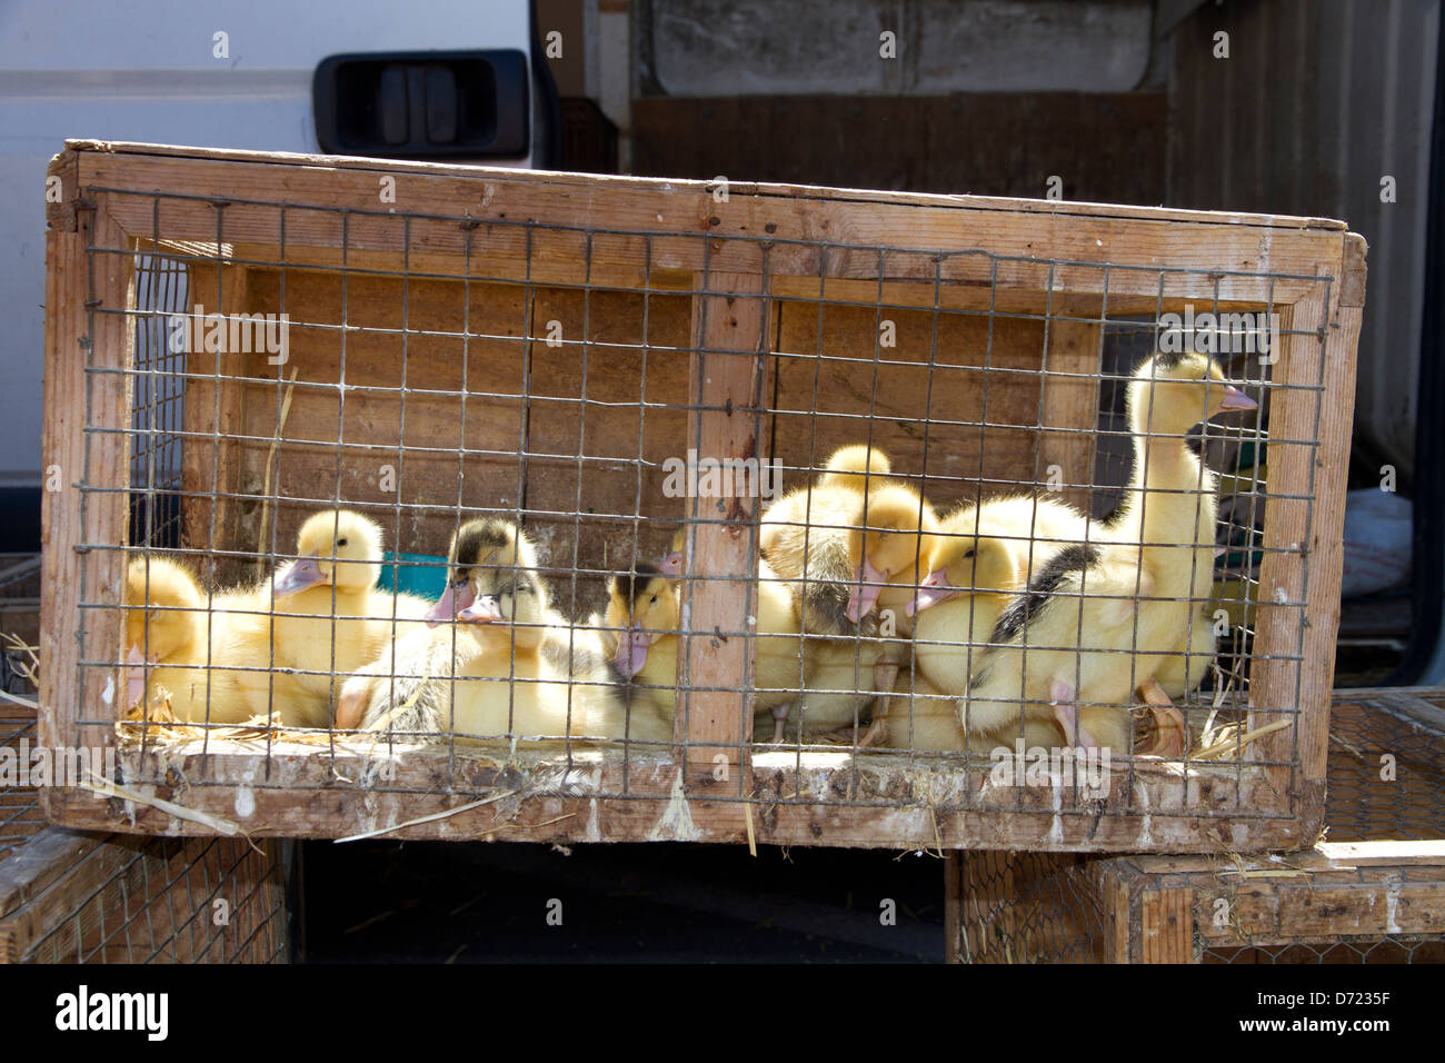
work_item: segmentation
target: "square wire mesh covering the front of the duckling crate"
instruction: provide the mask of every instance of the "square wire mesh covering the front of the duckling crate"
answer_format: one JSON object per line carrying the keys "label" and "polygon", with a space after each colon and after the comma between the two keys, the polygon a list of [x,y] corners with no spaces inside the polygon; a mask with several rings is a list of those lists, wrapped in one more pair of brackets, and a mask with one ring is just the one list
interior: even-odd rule
{"label": "square wire mesh covering the front of the duckling crate", "polygon": [[[1274,379],[1269,351],[1322,340],[1279,323],[1273,285],[1328,302],[1329,276],[139,198],[144,250],[88,249],[144,282],[134,305],[91,308],[124,317],[136,354],[90,369],[92,388],[124,376],[130,418],[88,424],[88,445],[120,431],[131,461],[129,484],[81,490],[124,493],[131,539],[82,548],[126,551],[134,576],[126,603],[82,587],[82,613],[123,612],[127,633],[118,651],[87,639],[81,671],[126,691],[120,740],[142,756],[224,742],[340,762],[364,745],[445,756],[426,793],[474,793],[460,765],[478,749],[564,765],[607,751],[621,772],[598,795],[626,797],[659,756],[718,754],[750,771],[711,800],[946,813],[1023,808],[1026,787],[990,784],[1022,743],[1020,765],[1040,746],[1088,759],[1062,803],[1030,800],[1094,821],[1110,765],[1108,811],[1150,811],[1139,754],[1235,781],[1299,769],[1298,743],[1225,739],[1299,713],[1302,633],[1267,661],[1293,697],[1250,687],[1261,570],[1299,554],[1267,541],[1267,505],[1302,505],[1308,532],[1315,502],[1270,490],[1266,445],[1312,454],[1325,401]],[[169,240],[166,218],[198,207],[214,242]],[[277,237],[241,242],[227,218],[243,207]],[[431,250],[458,229],[462,255]],[[653,269],[683,243],[699,275]],[[525,272],[500,247],[525,249]],[[760,291],[727,289],[740,256],[760,262]],[[1270,296],[1221,298],[1237,276]],[[1199,285],[1214,296],[1194,305],[1182,292]],[[756,334],[730,334],[749,311]],[[1181,311],[1198,333],[1169,324]],[[1240,349],[1168,346],[1196,336]],[[721,402],[740,353],[753,390]],[[1280,401],[1305,431],[1269,431]],[[750,450],[712,453],[733,417]],[[850,444],[889,467],[840,473]],[[1040,502],[990,524],[1010,496]],[[751,560],[717,567],[740,532]],[[968,558],[949,552],[965,541]],[[1004,574],[983,574],[984,544]],[[944,557],[974,574],[955,583]],[[933,576],[952,592],[939,625],[918,607]],[[738,584],[737,607],[718,606]],[[1303,599],[1267,605],[1303,632]],[[714,607],[733,619],[688,626]],[[736,670],[707,665],[737,642]],[[87,704],[79,725],[114,717]],[[840,752],[845,780],[806,782]],[[926,795],[886,777],[918,768],[959,775]],[[1152,814],[1293,808],[1241,791]]]}

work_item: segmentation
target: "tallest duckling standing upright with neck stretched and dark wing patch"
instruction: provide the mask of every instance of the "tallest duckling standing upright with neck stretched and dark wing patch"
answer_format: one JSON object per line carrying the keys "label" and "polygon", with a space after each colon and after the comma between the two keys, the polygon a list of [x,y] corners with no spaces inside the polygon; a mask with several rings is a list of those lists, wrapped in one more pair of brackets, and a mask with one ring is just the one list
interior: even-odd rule
{"label": "tallest duckling standing upright with neck stretched and dark wing patch", "polygon": [[1140,691],[1159,720],[1149,752],[1183,752],[1183,719],[1159,675],[1169,677],[1185,642],[1196,649],[1208,638],[1212,651],[1212,626],[1191,632],[1189,619],[1212,580],[1217,508],[1215,477],[1186,434],[1254,408],[1204,356],[1140,363],[1129,388],[1136,457],[1126,505],[1101,541],[1053,554],[1003,610],[962,703],[971,733],[1017,719],[1020,704],[1026,716],[1049,706],[1071,742],[1127,749]]}

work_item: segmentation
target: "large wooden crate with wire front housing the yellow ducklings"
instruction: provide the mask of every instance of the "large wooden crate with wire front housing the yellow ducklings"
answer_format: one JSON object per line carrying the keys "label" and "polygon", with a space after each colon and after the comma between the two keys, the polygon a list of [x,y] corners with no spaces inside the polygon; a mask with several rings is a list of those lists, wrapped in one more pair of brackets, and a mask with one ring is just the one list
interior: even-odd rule
{"label": "large wooden crate with wire front housing the yellow ducklings", "polygon": [[[478,759],[282,733],[142,742],[120,749],[131,800],[53,787],[56,821],[204,833],[199,813],[253,836],[1055,850],[1314,842],[1344,498],[1318,470],[1348,454],[1364,292],[1364,243],[1342,224],[92,142],[69,143],[51,174],[45,460],[65,487],[45,515],[48,743],[117,740],[126,547],[182,548],[234,580],[319,506],[367,509],[397,550],[429,555],[460,511],[512,512],[575,622],[608,571],[659,555],[681,524],[694,573],[672,749]],[[158,263],[185,269],[186,295]],[[176,298],[288,314],[286,364],[198,350],[182,369],[155,324]],[[1103,369],[1111,330],[1143,317],[1153,336],[1160,314],[1195,305],[1282,325],[1256,380],[1267,482],[1240,489],[1257,564],[1227,707],[1287,726],[1227,765],[1127,758],[1103,801],[1056,781],[991,787],[987,759],[751,742],[759,503],[741,487],[668,499],[669,458],[776,458],[802,477],[871,438],[941,508],[983,484],[1059,487],[1098,509],[1101,395],[1120,386]]]}

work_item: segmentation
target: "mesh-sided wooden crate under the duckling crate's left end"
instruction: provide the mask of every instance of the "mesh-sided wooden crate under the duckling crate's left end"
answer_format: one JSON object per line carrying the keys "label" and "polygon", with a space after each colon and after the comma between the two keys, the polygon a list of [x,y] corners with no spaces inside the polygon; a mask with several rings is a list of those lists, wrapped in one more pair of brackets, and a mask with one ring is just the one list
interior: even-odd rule
{"label": "mesh-sided wooden crate under the duckling crate's left end", "polygon": [[0,963],[285,963],[280,846],[43,830],[0,859]]}

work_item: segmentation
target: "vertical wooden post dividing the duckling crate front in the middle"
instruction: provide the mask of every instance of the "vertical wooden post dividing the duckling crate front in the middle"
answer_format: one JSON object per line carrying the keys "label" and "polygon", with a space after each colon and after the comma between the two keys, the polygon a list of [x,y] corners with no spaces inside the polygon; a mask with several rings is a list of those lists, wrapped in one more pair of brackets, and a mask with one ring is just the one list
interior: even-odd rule
{"label": "vertical wooden post dividing the duckling crate front in the middle", "polygon": [[[762,278],[709,270],[696,286],[709,294],[696,298],[692,311],[695,409],[688,417],[688,445],[699,464],[756,463],[767,457],[762,356],[769,314]],[[702,794],[720,781],[717,756],[728,765],[727,778],[741,785],[743,745],[751,739],[744,691],[753,674],[749,616],[757,613],[760,484],[741,480],[727,477],[718,493],[704,496],[699,489],[688,500],[692,526],[685,548],[678,740],[686,746],[686,785]]]}

